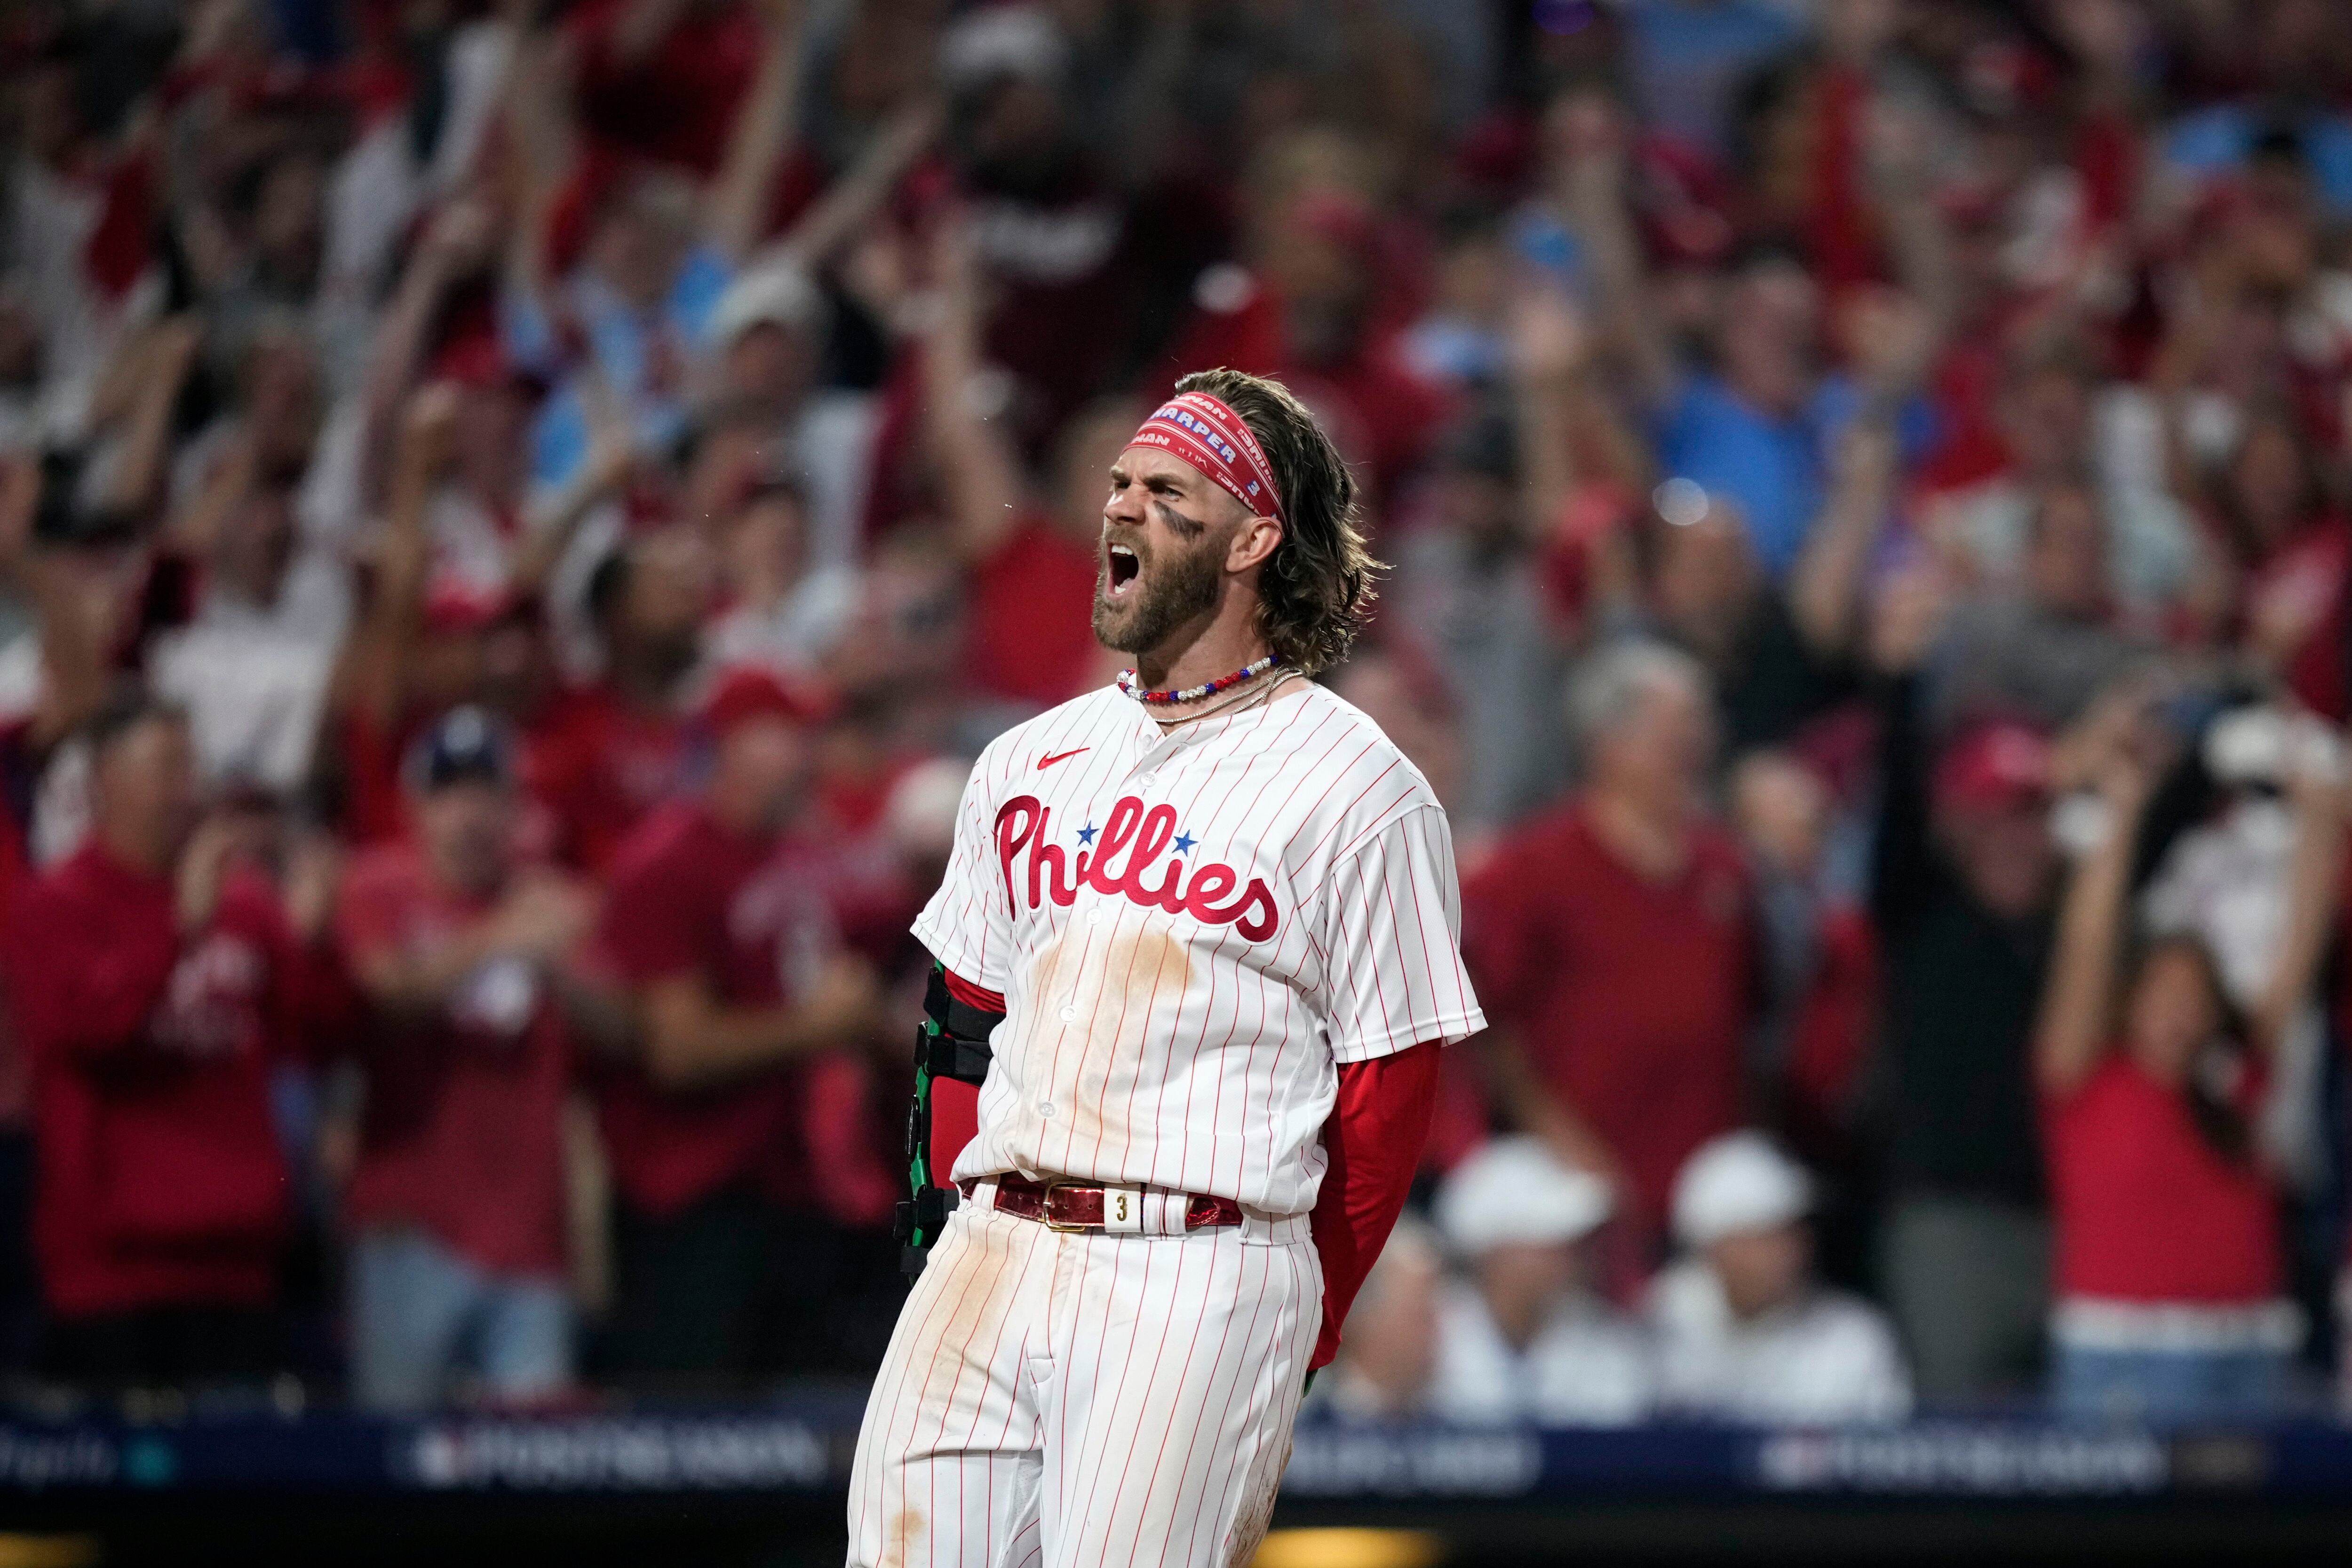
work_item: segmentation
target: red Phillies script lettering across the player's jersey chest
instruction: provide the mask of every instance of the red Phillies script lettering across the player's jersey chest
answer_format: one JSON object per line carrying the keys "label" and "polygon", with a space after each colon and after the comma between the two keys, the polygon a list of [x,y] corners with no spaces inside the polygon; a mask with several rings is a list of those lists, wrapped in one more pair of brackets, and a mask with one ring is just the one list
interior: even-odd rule
{"label": "red Phillies script lettering across the player's jersey chest", "polygon": [[[1240,875],[1230,865],[1195,865],[1185,882],[1185,863],[1178,853],[1167,872],[1150,882],[1152,865],[1176,839],[1176,806],[1143,809],[1134,795],[1122,795],[1103,823],[1103,842],[1080,849],[1077,860],[1065,863],[1061,844],[1047,844],[1047,823],[1054,811],[1035,795],[1018,795],[997,811],[997,858],[1004,863],[1004,898],[1021,910],[1021,889],[1014,882],[1014,858],[1028,851],[1028,907],[1047,898],[1070,907],[1077,889],[1091,886],[1096,893],[1124,893],[1129,903],[1169,914],[1190,914],[1211,926],[1232,926],[1254,943],[1263,943],[1282,924],[1275,912],[1275,896],[1258,877],[1249,879],[1240,898],[1230,898]],[[1091,839],[1091,830],[1080,835]],[[1181,849],[1181,846],[1178,846]],[[1127,865],[1112,870],[1112,860],[1127,853]],[[1063,882],[1070,875],[1070,882]],[[1230,903],[1225,903],[1230,898]]]}

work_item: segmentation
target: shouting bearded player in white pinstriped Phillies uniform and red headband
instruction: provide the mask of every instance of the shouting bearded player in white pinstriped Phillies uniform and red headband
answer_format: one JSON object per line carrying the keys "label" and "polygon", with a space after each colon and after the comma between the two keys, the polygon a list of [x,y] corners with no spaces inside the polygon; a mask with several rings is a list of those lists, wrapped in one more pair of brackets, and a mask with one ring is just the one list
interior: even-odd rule
{"label": "shouting bearded player in white pinstriped Phillies uniform and red headband", "polygon": [[1371,597],[1352,510],[1240,371],[1110,470],[1094,630],[1134,670],[981,755],[915,924],[978,1133],[866,1406],[851,1563],[1223,1568],[1265,1533],[1437,1051],[1484,1025],[1444,811],[1308,679]]}

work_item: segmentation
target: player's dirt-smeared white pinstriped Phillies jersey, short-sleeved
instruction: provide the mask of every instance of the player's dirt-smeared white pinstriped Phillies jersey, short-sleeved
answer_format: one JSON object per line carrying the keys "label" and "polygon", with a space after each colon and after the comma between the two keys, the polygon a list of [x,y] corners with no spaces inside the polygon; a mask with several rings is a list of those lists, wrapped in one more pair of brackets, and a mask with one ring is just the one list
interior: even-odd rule
{"label": "player's dirt-smeared white pinstriped Phillies jersey, short-sleeved", "polygon": [[1484,1027],[1446,813],[1322,686],[1167,736],[1103,686],[1007,731],[915,936],[1004,994],[957,1178],[1305,1213],[1336,1063]]}

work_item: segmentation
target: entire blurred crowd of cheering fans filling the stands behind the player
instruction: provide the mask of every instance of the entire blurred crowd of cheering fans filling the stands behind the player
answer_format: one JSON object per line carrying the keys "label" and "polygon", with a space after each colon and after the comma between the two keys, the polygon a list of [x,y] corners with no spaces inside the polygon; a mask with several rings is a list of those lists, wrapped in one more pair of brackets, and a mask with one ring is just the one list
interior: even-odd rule
{"label": "entire blurred crowd of cheering fans filling the stands behind the player", "polygon": [[0,1363],[868,1373],[908,919],[1232,364],[1494,1025],[1317,1401],[2324,1399],[2347,82],[2331,0],[0,9]]}

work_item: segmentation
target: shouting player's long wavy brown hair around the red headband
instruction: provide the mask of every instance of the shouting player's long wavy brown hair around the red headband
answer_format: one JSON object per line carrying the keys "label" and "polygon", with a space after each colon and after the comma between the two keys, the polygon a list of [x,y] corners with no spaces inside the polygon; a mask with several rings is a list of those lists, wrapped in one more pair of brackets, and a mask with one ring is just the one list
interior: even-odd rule
{"label": "shouting player's long wavy brown hair around the red headband", "polygon": [[1357,529],[1355,475],[1305,404],[1279,381],[1237,369],[1204,369],[1176,383],[1209,393],[1240,414],[1275,470],[1282,543],[1258,574],[1258,630],[1301,675],[1348,654],[1385,571]]}

